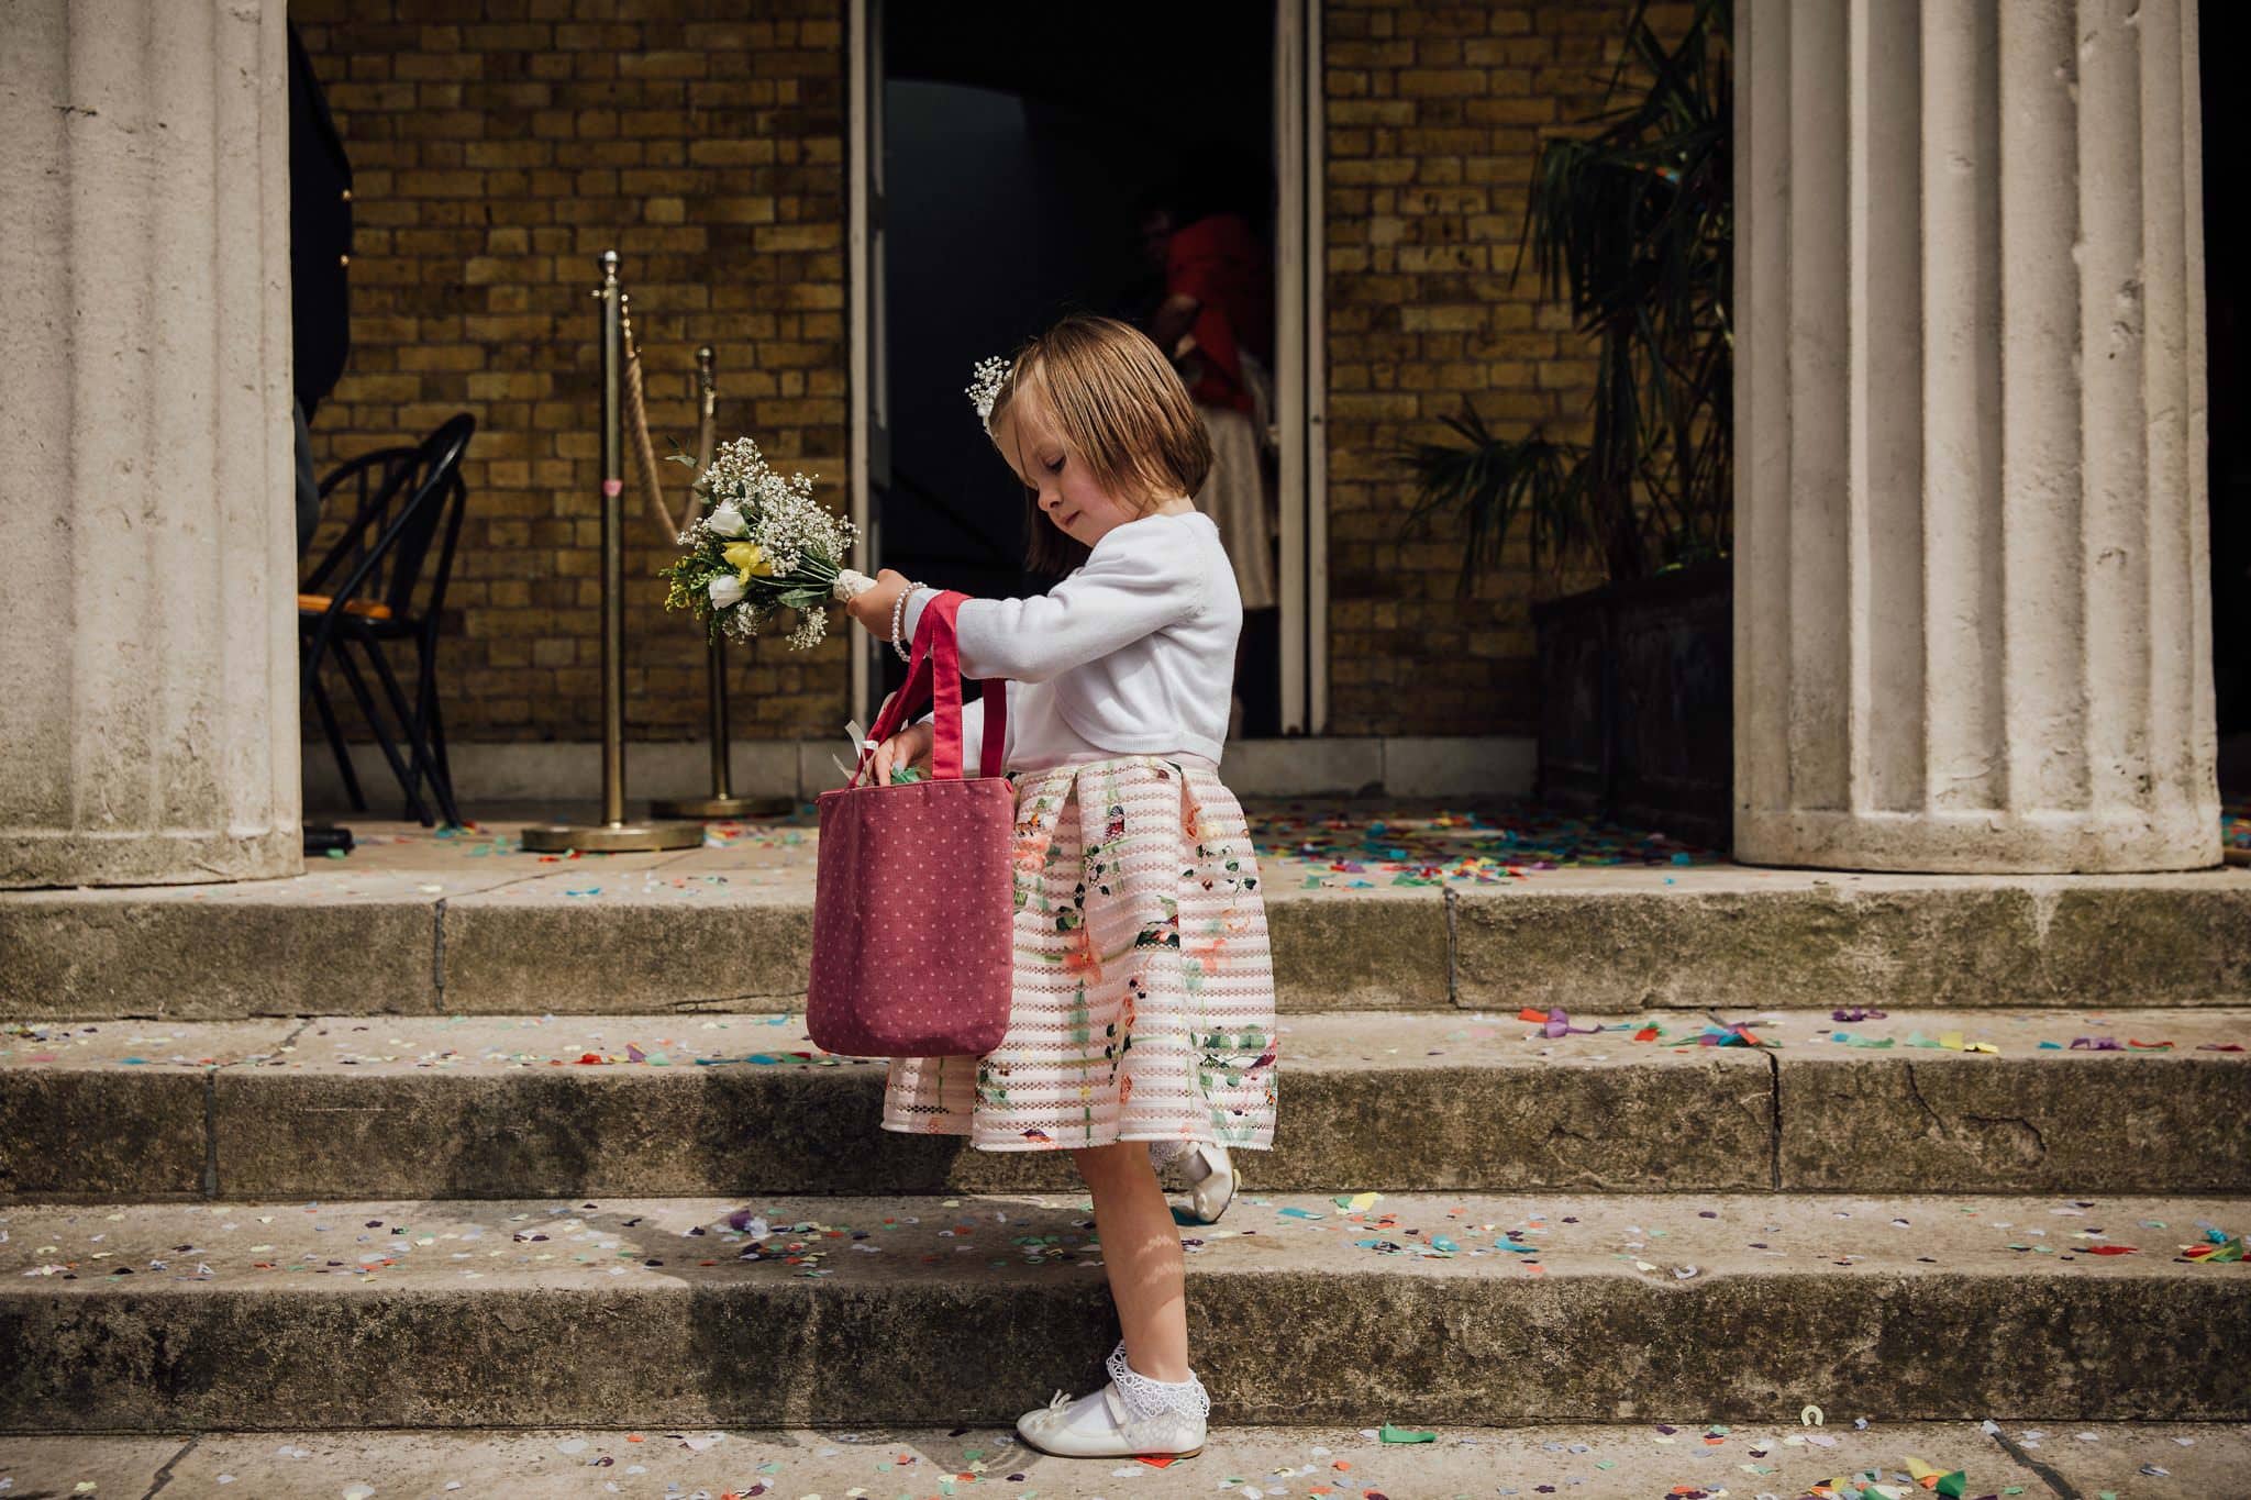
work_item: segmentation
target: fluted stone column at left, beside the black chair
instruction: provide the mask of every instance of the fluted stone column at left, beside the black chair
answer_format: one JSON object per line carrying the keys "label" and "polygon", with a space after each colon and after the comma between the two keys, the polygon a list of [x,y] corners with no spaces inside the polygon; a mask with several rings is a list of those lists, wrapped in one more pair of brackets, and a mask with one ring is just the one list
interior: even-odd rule
{"label": "fluted stone column at left, beside the black chair", "polygon": [[0,884],[297,873],[284,0],[0,11]]}

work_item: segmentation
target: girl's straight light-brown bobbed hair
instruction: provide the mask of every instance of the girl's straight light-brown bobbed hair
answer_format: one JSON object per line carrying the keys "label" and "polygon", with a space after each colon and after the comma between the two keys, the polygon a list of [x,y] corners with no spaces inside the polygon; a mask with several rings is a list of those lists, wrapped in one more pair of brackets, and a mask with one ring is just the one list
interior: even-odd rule
{"label": "girl's straight light-brown bobbed hair", "polygon": [[[1002,414],[1024,394],[1103,490],[1135,510],[1204,488],[1211,434],[1171,360],[1132,324],[1071,313],[1024,344],[993,398],[986,430],[995,445]],[[1031,571],[1067,573],[1087,560],[1087,546],[1040,513],[1035,493],[1026,490],[1024,510]]]}

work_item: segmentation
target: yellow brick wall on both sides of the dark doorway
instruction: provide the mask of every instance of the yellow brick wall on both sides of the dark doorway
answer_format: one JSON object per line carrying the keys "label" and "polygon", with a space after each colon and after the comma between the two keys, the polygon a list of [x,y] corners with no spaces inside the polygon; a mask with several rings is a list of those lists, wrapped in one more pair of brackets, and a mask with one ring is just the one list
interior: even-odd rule
{"label": "yellow brick wall on both sides of the dark doorway", "polygon": [[[1256,0],[1252,0],[1256,2]],[[599,733],[597,353],[615,245],[660,434],[693,436],[698,342],[720,432],[844,506],[842,0],[293,0],[356,173],[353,351],[322,468],[477,416],[441,657],[455,740]],[[585,16],[603,20],[585,20]],[[1589,360],[1526,272],[1533,151],[1600,103],[1625,0],[1326,0],[1330,711],[1337,733],[1522,733],[1515,562],[1459,600],[1459,535],[1400,537],[1389,454],[1468,398],[1576,430]],[[754,18],[745,18],[754,16]],[[678,466],[664,466],[666,479]],[[628,722],[702,726],[702,643],[660,607],[671,549],[628,488]],[[1571,587],[1585,576],[1567,580]],[[738,733],[828,735],[837,641],[738,654]]]}

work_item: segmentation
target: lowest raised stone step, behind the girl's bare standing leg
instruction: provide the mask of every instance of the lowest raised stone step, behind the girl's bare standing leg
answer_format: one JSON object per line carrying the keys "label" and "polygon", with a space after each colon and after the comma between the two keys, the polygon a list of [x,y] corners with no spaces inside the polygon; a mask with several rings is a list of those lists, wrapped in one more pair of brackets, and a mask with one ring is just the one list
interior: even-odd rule
{"label": "lowest raised stone step, behind the girl's bare standing leg", "polygon": [[[1116,1338],[1092,1223],[1076,1194],[11,1208],[0,1430],[1013,1421]],[[1182,1244],[1227,1424],[2242,1421],[2251,1266],[2181,1248],[2246,1223],[2251,1199],[1258,1194]]]}

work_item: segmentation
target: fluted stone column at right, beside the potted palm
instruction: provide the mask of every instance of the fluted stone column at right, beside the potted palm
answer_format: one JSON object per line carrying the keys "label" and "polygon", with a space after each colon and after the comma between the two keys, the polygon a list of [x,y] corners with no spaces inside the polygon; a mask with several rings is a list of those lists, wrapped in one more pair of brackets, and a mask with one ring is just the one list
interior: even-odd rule
{"label": "fluted stone column at right, beside the potted palm", "polygon": [[1736,850],[2219,861],[2192,0],[1745,0]]}

